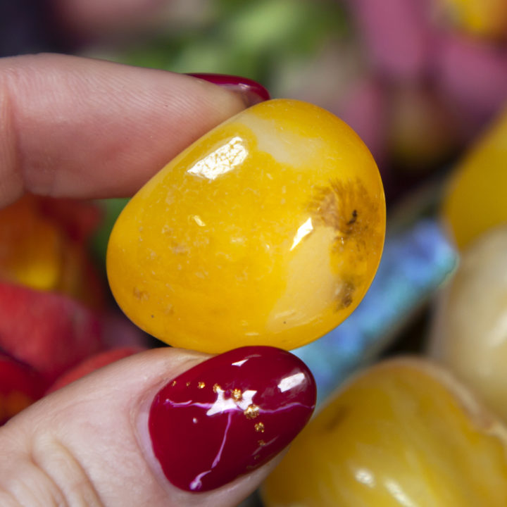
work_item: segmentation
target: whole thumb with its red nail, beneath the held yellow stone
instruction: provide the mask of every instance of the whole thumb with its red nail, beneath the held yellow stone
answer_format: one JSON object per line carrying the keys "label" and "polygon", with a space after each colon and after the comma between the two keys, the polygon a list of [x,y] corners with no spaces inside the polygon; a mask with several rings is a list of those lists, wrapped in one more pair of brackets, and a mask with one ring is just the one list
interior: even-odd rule
{"label": "whole thumb with its red nail, beneath the held yellow stone", "polygon": [[280,349],[140,353],[0,428],[0,505],[234,506],[314,406],[311,373]]}

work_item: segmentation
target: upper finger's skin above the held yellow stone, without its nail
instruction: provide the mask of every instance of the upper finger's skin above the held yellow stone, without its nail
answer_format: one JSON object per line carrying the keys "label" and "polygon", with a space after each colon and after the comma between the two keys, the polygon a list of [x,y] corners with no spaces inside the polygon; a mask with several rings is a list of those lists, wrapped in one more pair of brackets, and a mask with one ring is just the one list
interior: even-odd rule
{"label": "upper finger's skin above the held yellow stone, without its nail", "polygon": [[129,196],[246,107],[187,75],[76,56],[0,61],[0,207],[23,192]]}

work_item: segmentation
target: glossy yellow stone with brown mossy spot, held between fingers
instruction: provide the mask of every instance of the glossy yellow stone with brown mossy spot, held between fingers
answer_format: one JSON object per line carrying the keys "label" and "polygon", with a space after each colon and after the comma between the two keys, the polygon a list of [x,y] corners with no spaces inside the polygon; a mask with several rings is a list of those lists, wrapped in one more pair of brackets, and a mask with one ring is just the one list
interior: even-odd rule
{"label": "glossy yellow stone with brown mossy spot, held between fingers", "polygon": [[293,349],[342,322],[380,261],[370,152],[317,106],[273,100],[201,137],[118,218],[108,278],[123,311],[173,346]]}

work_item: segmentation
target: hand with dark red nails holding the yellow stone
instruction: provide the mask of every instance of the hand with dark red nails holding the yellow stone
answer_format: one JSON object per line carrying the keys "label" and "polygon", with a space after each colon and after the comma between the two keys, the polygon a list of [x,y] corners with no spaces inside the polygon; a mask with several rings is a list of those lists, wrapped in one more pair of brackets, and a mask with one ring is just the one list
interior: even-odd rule
{"label": "hand with dark red nails holding the yellow stone", "polygon": [[[0,90],[1,206],[23,192],[130,195],[249,105],[234,86],[56,55],[0,61]],[[206,361],[192,351],[147,351],[30,406],[0,428],[0,505],[236,505],[308,420],[315,385],[297,358],[277,349],[227,354]],[[294,376],[299,383],[280,388]],[[197,448],[185,406],[173,400],[166,408],[166,393],[152,405],[174,380],[176,398],[205,396]],[[213,406],[218,424],[206,415]],[[210,491],[189,492],[199,480]]]}

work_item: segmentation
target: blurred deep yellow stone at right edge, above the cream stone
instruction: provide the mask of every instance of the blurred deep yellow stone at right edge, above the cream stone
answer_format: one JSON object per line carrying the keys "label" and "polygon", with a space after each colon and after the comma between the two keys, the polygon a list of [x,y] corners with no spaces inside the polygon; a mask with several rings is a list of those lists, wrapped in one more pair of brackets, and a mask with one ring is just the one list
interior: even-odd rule
{"label": "blurred deep yellow stone at right edge, above the cream stone", "polygon": [[454,170],[442,214],[460,249],[507,222],[507,110]]}

